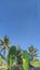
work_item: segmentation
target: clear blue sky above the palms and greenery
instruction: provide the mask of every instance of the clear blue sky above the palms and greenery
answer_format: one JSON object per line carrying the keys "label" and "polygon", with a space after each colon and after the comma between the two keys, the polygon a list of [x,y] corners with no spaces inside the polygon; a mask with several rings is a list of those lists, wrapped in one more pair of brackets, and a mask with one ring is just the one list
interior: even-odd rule
{"label": "clear blue sky above the palms and greenery", "polygon": [[10,37],[13,44],[40,51],[40,0],[0,0],[0,38]]}

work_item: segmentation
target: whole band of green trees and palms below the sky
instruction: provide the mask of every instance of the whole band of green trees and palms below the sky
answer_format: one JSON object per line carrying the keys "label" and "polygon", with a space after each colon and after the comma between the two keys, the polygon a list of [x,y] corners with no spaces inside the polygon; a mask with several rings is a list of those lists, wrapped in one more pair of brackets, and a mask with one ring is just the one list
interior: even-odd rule
{"label": "whole band of green trees and palms below the sky", "polygon": [[40,67],[36,47],[30,45],[27,51],[10,43],[8,36],[0,39],[0,70],[29,70],[30,66]]}

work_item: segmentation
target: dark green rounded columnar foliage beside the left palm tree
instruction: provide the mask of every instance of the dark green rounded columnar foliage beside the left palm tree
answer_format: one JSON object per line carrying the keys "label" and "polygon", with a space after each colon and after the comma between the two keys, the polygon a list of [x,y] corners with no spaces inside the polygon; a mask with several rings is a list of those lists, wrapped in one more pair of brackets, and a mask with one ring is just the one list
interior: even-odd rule
{"label": "dark green rounded columnar foliage beside the left palm tree", "polygon": [[16,56],[16,47],[15,46],[11,46],[10,51],[9,51],[9,55],[8,55],[8,65],[12,66],[14,60],[15,60],[15,56]]}

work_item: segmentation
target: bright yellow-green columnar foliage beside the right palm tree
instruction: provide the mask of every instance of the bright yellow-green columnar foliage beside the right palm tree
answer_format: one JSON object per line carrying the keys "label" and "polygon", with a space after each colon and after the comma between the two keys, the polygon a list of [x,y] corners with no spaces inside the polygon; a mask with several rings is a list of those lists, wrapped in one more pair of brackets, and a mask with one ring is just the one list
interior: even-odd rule
{"label": "bright yellow-green columnar foliage beside the right palm tree", "polygon": [[28,70],[29,69],[29,56],[28,53],[26,51],[23,52],[23,68],[24,70]]}

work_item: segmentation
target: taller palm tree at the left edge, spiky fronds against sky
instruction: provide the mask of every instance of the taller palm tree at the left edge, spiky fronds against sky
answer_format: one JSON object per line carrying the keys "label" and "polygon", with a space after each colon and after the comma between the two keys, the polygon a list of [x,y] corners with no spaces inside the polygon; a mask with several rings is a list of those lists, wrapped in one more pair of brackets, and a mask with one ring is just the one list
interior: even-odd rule
{"label": "taller palm tree at the left edge, spiky fronds against sky", "polygon": [[5,51],[10,48],[9,44],[10,44],[10,41],[8,36],[5,34],[3,39],[0,39],[0,52],[4,51],[3,54],[5,54]]}

